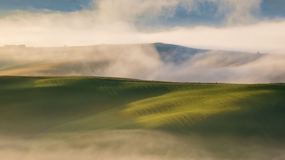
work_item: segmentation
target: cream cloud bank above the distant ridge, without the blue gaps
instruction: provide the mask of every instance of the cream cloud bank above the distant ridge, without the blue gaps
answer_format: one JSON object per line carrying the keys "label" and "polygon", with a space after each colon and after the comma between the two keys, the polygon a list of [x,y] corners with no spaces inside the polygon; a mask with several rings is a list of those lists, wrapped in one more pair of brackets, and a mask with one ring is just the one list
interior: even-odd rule
{"label": "cream cloud bank above the distant ridge, without the blue gaps", "polygon": [[[18,11],[0,17],[0,45],[82,46],[164,42],[194,48],[284,53],[285,21],[259,19],[260,0],[97,0],[91,10],[76,12]],[[220,26],[155,25],[182,7],[199,12],[216,4]],[[153,24],[153,25],[152,25]]]}

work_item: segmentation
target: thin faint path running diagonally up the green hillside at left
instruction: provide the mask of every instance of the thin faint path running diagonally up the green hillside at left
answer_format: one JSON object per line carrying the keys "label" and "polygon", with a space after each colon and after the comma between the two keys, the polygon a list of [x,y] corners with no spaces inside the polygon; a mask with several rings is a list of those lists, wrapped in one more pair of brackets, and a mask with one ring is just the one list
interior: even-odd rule
{"label": "thin faint path running diagonally up the green hillside at left", "polygon": [[14,146],[14,147],[11,147],[11,148],[8,148],[8,149],[4,149],[4,150],[10,150],[10,149],[14,149],[14,148],[17,148],[17,147],[21,147],[22,145],[28,143],[29,141],[31,141],[31,140],[33,140],[34,138],[36,138],[37,136],[39,136],[42,132],[44,132],[44,131],[46,131],[46,130],[48,130],[49,128],[52,128],[52,127],[54,127],[54,126],[58,126],[58,125],[60,125],[60,124],[64,124],[64,123],[67,123],[67,122],[70,122],[70,121],[74,121],[74,120],[77,120],[77,119],[80,119],[80,118],[84,118],[84,117],[87,117],[87,116],[91,116],[91,115],[93,115],[93,114],[96,114],[96,113],[99,113],[99,112],[103,112],[103,111],[108,110],[108,109],[111,109],[111,108],[115,108],[115,107],[117,107],[117,106],[119,106],[119,105],[121,105],[121,104],[118,104],[118,105],[112,106],[112,107],[110,107],[110,108],[106,108],[106,109],[100,110],[100,111],[98,111],[98,112],[94,112],[94,113],[91,113],[91,114],[87,114],[87,115],[82,116],[82,117],[74,118],[74,119],[72,119],[72,120],[64,121],[64,122],[61,122],[61,123],[58,123],[58,124],[53,124],[53,125],[51,125],[51,126],[48,126],[48,127],[44,128],[44,129],[38,131],[34,136],[28,138],[27,140],[25,140],[24,142],[20,143],[19,145],[16,145],[16,146]]}

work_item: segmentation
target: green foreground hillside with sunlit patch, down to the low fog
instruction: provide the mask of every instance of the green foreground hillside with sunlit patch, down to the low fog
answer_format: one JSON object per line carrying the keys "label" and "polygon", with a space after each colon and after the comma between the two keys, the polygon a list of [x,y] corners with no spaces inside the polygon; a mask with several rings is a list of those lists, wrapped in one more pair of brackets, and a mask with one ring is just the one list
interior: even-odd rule
{"label": "green foreground hillside with sunlit patch, down to the low fog", "polygon": [[0,134],[102,129],[285,136],[285,85],[108,77],[0,77]]}

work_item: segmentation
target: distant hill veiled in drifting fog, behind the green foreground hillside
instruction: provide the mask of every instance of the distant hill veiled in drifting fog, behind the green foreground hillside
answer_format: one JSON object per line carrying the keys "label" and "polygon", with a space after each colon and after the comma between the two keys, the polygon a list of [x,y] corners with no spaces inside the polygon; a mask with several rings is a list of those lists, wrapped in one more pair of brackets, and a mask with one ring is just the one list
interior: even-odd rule
{"label": "distant hill veiled in drifting fog, behind the green foreground hillside", "polygon": [[0,75],[92,75],[205,83],[285,82],[283,54],[181,49],[158,44],[102,44],[2,47],[0,56]]}

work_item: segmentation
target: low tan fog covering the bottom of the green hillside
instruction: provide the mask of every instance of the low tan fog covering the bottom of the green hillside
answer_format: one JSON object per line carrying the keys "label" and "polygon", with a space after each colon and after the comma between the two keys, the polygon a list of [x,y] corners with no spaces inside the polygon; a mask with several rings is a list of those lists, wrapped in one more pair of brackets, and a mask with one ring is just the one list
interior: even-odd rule
{"label": "low tan fog covering the bottom of the green hillside", "polygon": [[174,135],[155,130],[104,130],[91,133],[50,133],[9,149],[21,140],[1,137],[1,159],[284,159],[282,141],[233,135]]}

